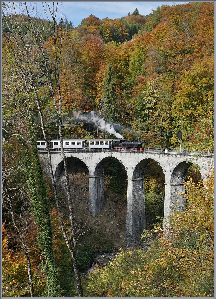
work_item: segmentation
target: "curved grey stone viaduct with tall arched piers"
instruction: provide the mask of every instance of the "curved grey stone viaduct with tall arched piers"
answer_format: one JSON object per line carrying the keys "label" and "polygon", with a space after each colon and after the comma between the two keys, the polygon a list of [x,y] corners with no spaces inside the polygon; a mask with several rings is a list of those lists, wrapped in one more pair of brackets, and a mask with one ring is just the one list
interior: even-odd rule
{"label": "curved grey stone viaduct with tall arched piers", "polygon": [[[165,202],[164,219],[175,210],[185,207],[185,198],[179,196],[185,191],[182,181],[185,181],[189,166],[198,165],[201,178],[205,179],[211,165],[214,165],[213,155],[196,154],[190,152],[175,152],[175,149],[147,149],[145,152],[119,151],[66,151],[67,159],[75,157],[86,164],[89,170],[89,211],[95,217],[104,206],[104,176],[103,170],[107,160],[116,158],[127,171],[127,219],[126,243],[139,243],[140,235],[145,229],[145,193],[144,172],[150,160],[155,160],[165,174]],[[47,154],[39,153],[43,161],[43,168],[49,173]],[[52,167],[57,180],[63,170],[62,155],[60,152],[51,152]]]}

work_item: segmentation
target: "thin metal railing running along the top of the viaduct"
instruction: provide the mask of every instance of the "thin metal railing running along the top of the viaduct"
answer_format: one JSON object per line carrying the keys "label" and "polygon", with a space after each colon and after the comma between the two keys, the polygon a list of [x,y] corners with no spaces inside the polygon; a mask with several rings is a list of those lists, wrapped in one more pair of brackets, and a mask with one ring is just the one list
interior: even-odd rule
{"label": "thin metal railing running along the top of the viaduct", "polygon": [[[38,149],[39,152],[47,152],[46,149]],[[64,152],[140,152],[140,153],[162,153],[162,154],[178,154],[178,155],[207,155],[214,156],[213,150],[189,150],[181,148],[162,148],[162,147],[143,147],[143,148],[72,148],[64,149]],[[50,152],[61,152],[61,149],[50,148]]]}

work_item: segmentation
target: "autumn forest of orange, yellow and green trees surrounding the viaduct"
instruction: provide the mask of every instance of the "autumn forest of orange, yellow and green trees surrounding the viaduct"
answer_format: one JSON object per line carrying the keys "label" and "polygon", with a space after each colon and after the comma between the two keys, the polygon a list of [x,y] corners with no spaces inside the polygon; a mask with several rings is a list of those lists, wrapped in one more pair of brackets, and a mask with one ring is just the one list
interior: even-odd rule
{"label": "autumn forest of orange, yellow and green trees surrounding the viaduct", "polygon": [[[125,139],[140,130],[143,147],[179,149],[182,120],[182,148],[212,152],[215,3],[162,5],[146,16],[134,7],[120,19],[91,14],[76,28],[56,17],[57,2],[44,2],[46,19],[31,2],[1,4],[2,297],[214,297],[213,162],[206,181],[195,163],[189,168],[186,209],[166,233],[164,181],[149,164],[147,229],[140,246],[126,246],[107,238],[91,213],[77,216],[70,169],[82,180],[86,173],[62,145],[64,197],[49,141],[113,139],[76,117],[94,111]],[[51,176],[37,140],[45,141]],[[123,210],[127,176],[116,161],[104,168],[105,183]],[[105,252],[115,252],[108,266],[80,275]]]}

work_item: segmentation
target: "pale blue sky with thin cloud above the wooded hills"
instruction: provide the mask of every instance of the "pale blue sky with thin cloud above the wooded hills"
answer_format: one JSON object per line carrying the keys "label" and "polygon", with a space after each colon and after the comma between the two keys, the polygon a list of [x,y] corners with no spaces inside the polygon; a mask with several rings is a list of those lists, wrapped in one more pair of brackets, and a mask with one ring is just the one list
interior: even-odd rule
{"label": "pale blue sky with thin cloud above the wooded hills", "polygon": [[[22,1],[17,1],[17,4],[21,4]],[[42,18],[46,19],[42,1],[34,2],[37,9],[40,11]],[[137,8],[142,15],[150,14],[153,10],[156,10],[158,6],[162,4],[175,5],[185,4],[188,1],[63,1],[59,2],[59,12],[71,20],[74,27],[78,26],[82,19],[88,17],[90,14],[97,16],[99,19],[103,18],[121,18],[126,16],[128,12],[133,13]],[[28,2],[28,5],[32,5],[33,2]]]}

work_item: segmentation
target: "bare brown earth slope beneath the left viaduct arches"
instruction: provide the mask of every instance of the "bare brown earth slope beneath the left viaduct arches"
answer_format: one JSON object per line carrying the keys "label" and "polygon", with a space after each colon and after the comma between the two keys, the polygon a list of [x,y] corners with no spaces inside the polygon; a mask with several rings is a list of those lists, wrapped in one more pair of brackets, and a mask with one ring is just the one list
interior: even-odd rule
{"label": "bare brown earth slope beneath the left viaduct arches", "polygon": [[[115,248],[125,246],[127,201],[121,194],[109,188],[109,178],[104,177],[105,205],[93,217],[89,212],[89,173],[85,166],[69,164],[69,181],[74,203],[74,216],[86,227],[93,227],[100,232]],[[57,180],[57,187],[62,201],[62,210],[67,213],[67,196],[64,171]],[[90,233],[90,232],[89,232]]]}

